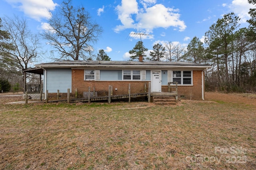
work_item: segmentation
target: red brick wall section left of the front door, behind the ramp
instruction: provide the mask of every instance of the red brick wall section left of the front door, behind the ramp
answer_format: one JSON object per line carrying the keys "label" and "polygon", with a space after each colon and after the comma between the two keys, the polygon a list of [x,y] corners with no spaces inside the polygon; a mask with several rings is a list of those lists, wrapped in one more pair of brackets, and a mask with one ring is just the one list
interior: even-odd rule
{"label": "red brick wall section left of the front door, behind the ramp", "polygon": [[[131,94],[144,93],[144,87],[146,83],[146,90],[148,92],[148,81],[94,81],[84,80],[84,70],[72,70],[72,93],[75,89],[78,90],[78,97],[83,96],[83,92],[95,91],[98,96],[108,96],[108,86],[113,87],[113,95],[128,94],[129,83],[131,84]],[[117,88],[117,90],[115,90]],[[74,95],[74,94],[72,94]]]}

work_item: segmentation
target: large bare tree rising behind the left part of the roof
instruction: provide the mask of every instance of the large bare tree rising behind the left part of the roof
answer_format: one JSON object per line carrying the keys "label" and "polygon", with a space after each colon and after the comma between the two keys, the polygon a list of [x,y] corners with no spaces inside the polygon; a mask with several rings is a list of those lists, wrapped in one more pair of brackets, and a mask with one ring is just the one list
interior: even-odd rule
{"label": "large bare tree rising behind the left part of the roof", "polygon": [[42,37],[60,53],[58,59],[79,60],[92,57],[92,44],[98,41],[102,27],[94,22],[82,7],[74,7],[65,0],[48,21],[48,30]]}

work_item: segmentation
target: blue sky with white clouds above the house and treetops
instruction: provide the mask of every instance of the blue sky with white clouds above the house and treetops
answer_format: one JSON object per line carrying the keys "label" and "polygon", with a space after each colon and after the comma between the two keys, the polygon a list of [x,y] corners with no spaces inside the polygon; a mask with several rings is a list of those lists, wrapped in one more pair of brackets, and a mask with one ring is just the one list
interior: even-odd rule
{"label": "blue sky with white clouds above the house and treetops", "polygon": [[[16,14],[28,20],[32,31],[42,31],[49,17],[47,9],[53,12],[61,2],[0,0],[0,18]],[[186,47],[194,36],[204,39],[209,27],[230,12],[241,18],[241,27],[248,27],[248,12],[254,8],[247,0],[73,0],[73,4],[83,5],[102,26],[102,36],[93,47],[96,53],[104,49],[112,61],[129,59],[128,51],[140,41],[140,36],[130,33],[148,34],[142,41],[149,51],[154,44],[168,41]],[[50,47],[42,45],[50,55]]]}

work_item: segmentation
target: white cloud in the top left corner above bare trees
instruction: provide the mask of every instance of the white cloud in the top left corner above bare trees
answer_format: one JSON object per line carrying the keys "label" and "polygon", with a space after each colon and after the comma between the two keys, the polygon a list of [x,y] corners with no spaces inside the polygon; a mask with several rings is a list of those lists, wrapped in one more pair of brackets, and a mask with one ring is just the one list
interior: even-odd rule
{"label": "white cloud in the top left corner above bare trees", "polygon": [[53,0],[6,0],[13,8],[18,8],[30,18],[40,21],[42,18],[49,19],[52,11],[58,5]]}

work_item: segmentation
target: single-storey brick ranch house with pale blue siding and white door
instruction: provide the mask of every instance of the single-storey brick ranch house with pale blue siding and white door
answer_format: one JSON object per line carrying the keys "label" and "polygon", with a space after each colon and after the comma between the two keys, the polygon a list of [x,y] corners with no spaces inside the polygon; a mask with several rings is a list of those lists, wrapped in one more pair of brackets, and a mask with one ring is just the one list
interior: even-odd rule
{"label": "single-storey brick ranch house with pale blue siding and white door", "polygon": [[24,70],[43,74],[43,92],[50,97],[59,90],[62,98],[70,89],[74,97],[83,98],[88,87],[97,96],[108,96],[109,85],[113,95],[142,93],[148,84],[151,92],[168,92],[168,82],[178,82],[178,98],[204,100],[204,71],[211,66],[186,62],[153,61],[58,61],[36,64],[36,68]]}

